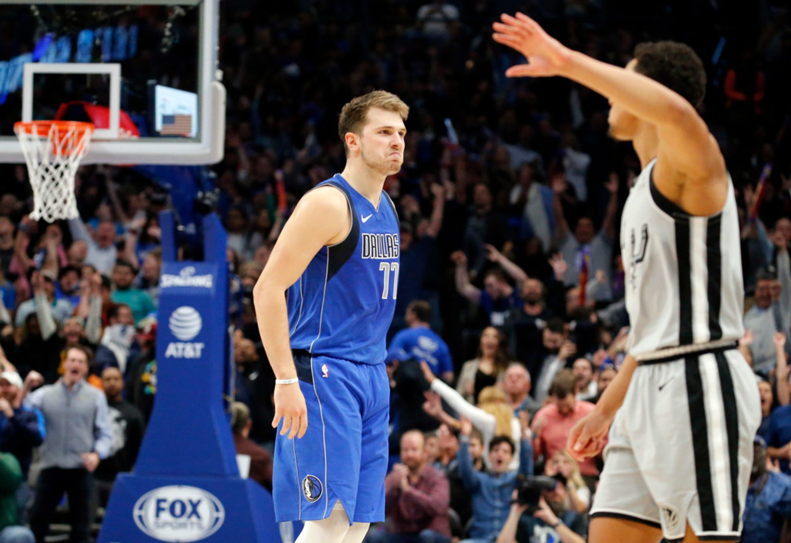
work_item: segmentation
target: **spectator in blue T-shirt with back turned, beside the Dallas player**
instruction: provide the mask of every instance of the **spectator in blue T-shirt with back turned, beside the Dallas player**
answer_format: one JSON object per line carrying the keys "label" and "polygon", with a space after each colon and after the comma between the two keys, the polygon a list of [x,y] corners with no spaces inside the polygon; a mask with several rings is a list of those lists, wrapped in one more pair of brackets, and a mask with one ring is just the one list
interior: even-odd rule
{"label": "spectator in blue T-shirt with back turned, beside the Dallas player", "polygon": [[429,326],[431,306],[415,300],[407,306],[409,328],[393,336],[388,348],[388,362],[414,359],[426,362],[434,375],[445,382],[453,381],[453,361],[448,344]]}

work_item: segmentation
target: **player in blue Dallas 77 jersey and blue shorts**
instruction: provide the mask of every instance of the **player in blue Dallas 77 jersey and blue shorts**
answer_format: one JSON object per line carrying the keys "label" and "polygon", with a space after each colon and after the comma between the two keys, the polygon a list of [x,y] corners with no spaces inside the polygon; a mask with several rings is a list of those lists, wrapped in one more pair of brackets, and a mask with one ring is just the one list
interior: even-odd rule
{"label": "player in blue Dallas 77 jersey and blue shorts", "polygon": [[382,188],[408,113],[384,91],[343,106],[346,168],[302,197],[253,290],[276,378],[275,516],[305,521],[297,543],[360,543],[384,521],[399,222]]}

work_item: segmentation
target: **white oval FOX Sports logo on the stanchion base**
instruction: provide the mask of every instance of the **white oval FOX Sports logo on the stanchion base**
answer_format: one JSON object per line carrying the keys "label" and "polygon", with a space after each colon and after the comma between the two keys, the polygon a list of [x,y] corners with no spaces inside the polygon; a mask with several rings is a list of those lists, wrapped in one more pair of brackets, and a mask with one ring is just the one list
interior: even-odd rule
{"label": "white oval FOX Sports logo on the stanchion base", "polygon": [[225,522],[221,501],[202,488],[176,484],[154,488],[134,504],[134,523],[159,541],[187,543],[214,534]]}

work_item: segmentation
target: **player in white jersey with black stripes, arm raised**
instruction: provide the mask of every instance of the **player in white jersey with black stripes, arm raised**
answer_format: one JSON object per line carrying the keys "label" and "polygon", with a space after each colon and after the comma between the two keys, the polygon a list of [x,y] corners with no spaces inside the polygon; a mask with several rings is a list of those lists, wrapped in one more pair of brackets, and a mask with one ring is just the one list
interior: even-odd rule
{"label": "player in white jersey with black stripes, arm raised", "polygon": [[736,199],[695,110],[703,65],[690,47],[659,42],[638,45],[624,69],[571,51],[521,13],[501,20],[494,40],[528,59],[506,75],[561,76],[607,97],[611,135],[631,141],[642,164],[621,225],[628,354],[569,436],[586,458],[610,430],[589,541],[736,541],[761,413],[736,351]]}

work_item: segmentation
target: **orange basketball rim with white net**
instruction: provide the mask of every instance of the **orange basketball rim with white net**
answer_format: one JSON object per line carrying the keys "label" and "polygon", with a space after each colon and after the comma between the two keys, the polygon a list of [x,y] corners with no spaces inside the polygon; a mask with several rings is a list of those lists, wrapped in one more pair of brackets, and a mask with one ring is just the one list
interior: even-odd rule
{"label": "orange basketball rim with white net", "polygon": [[74,177],[88,152],[92,123],[34,120],[14,123],[33,188],[30,218],[55,222],[78,218]]}

